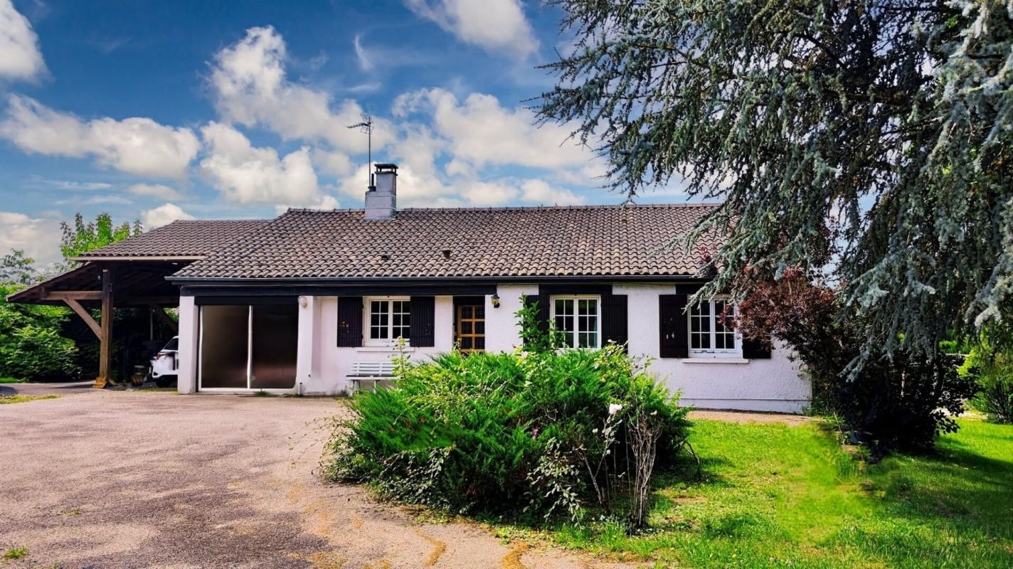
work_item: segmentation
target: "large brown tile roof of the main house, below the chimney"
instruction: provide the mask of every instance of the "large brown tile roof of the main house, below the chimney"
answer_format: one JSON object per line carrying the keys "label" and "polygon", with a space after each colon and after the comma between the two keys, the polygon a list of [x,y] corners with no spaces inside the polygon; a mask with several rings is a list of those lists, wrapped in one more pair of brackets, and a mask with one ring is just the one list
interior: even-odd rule
{"label": "large brown tile roof of the main house, below the chimney", "polygon": [[[713,205],[290,210],[180,278],[694,275],[703,252],[666,251]],[[709,237],[702,248],[720,245]],[[699,248],[698,248],[699,249]],[[449,251],[449,252],[447,252]]]}

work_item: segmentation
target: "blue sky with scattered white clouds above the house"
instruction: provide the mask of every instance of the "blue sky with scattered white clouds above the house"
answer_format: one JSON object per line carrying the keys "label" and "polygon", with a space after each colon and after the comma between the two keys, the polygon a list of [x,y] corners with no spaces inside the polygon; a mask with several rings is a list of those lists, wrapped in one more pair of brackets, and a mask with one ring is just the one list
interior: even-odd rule
{"label": "blue sky with scattered white clouds above the house", "polygon": [[361,208],[363,113],[399,206],[619,202],[523,102],[552,85],[536,66],[566,50],[558,19],[520,0],[0,0],[0,253],[55,260],[75,212]]}

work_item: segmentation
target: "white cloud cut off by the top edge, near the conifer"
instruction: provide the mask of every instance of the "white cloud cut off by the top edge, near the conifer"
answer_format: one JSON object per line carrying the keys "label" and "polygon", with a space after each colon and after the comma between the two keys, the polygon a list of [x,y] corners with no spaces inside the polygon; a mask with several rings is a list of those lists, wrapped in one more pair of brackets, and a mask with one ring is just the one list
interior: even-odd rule
{"label": "white cloud cut off by the top edge, near the conifer", "polygon": [[487,52],[524,59],[538,51],[538,39],[519,0],[404,0],[404,4],[417,16]]}

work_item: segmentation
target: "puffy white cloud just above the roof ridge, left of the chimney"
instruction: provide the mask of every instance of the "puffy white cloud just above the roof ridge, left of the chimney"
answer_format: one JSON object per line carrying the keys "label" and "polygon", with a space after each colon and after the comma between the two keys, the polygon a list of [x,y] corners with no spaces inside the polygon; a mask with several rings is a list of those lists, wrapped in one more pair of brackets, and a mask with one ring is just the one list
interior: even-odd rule
{"label": "puffy white cloud just above the roof ridge, left of the chimney", "polygon": [[[233,204],[333,207],[317,183],[308,148],[280,158],[272,148],[254,148],[228,125],[209,123],[201,130],[208,156],[201,171]],[[336,204],[336,202],[335,202]]]}

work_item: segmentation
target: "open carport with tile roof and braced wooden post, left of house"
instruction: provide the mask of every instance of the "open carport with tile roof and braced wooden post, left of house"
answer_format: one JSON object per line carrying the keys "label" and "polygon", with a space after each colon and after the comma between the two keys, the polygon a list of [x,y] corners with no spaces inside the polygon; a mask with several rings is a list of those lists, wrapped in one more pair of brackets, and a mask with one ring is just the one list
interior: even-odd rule
{"label": "open carport with tile roof and braced wooden post, left of house", "polygon": [[[83,263],[7,298],[25,304],[66,305],[94,332],[99,342],[95,387],[112,379],[112,311],[148,308],[172,329],[166,308],[179,305],[179,289],[165,277],[216,248],[242,238],[260,220],[176,221],[165,227],[90,251],[71,260]],[[96,321],[92,310],[99,312]]]}

